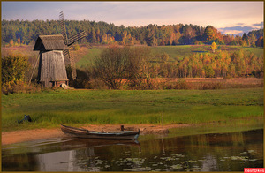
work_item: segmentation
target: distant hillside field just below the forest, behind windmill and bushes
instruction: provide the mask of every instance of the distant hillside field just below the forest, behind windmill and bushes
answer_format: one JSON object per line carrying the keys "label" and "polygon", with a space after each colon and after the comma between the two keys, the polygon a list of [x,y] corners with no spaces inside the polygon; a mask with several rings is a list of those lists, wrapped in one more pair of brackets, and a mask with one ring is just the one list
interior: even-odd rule
{"label": "distant hillside field just below the forest, behind windmill and bushes", "polygon": [[[77,51],[73,51],[73,55],[76,59],[76,66],[77,68],[83,69],[86,67],[89,67],[93,64],[94,59],[100,56],[100,53],[102,52],[102,49],[106,48],[107,46],[89,46],[89,45],[80,45],[80,49]],[[162,54],[167,53],[170,58],[170,62],[178,61],[183,59],[185,56],[191,56],[196,53],[210,53],[211,49],[209,45],[180,45],[180,46],[158,46],[158,47],[151,47],[155,54]],[[8,53],[20,53],[29,57],[32,64],[35,63],[35,58],[38,56],[37,51],[33,51],[34,45],[23,45],[23,46],[17,46],[17,47],[7,47],[2,48],[2,56],[7,55]],[[241,46],[227,46],[227,45],[221,45],[218,49],[216,49],[216,52],[218,50],[221,51],[228,51],[228,52],[234,52],[239,49],[245,49],[248,51],[253,52],[256,56],[263,56],[263,49],[261,48],[249,48],[249,47],[241,47]],[[69,60],[65,60],[66,63],[69,63]]]}

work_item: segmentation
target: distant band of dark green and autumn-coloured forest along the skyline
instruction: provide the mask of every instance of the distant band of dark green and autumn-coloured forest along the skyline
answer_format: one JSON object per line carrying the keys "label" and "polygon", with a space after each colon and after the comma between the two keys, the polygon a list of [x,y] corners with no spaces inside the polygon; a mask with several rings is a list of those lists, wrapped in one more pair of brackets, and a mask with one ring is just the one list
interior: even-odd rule
{"label": "distant band of dark green and autumn-coloured forest along the skyline", "polygon": [[[65,26],[68,36],[80,31],[87,32],[86,39],[79,43],[164,46],[211,44],[215,41],[217,45],[263,47],[263,29],[251,31],[243,36],[234,36],[221,34],[213,26],[183,24],[125,27],[103,21],[65,20]],[[57,20],[2,20],[2,45],[30,44],[38,35],[51,34],[60,34]]]}

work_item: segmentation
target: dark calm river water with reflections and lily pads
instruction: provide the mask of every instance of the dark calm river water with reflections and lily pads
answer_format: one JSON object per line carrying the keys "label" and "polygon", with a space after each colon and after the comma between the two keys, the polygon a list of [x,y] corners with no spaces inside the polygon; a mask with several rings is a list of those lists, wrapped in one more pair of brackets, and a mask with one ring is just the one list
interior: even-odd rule
{"label": "dark calm river water with reflections and lily pads", "polygon": [[[213,128],[218,132],[212,131]],[[211,130],[209,130],[211,129]],[[223,130],[222,130],[223,129]],[[263,167],[263,127],[182,128],[138,141],[45,139],[2,147],[2,171],[243,171]]]}

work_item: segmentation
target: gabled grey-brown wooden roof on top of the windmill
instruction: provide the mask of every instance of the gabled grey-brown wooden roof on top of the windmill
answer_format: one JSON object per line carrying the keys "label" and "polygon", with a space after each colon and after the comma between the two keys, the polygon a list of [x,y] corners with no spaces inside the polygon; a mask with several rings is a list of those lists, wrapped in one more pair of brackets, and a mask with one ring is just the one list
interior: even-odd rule
{"label": "gabled grey-brown wooden roof on top of the windmill", "polygon": [[58,35],[39,35],[35,42],[34,50],[64,50],[67,46],[64,44],[64,37]]}

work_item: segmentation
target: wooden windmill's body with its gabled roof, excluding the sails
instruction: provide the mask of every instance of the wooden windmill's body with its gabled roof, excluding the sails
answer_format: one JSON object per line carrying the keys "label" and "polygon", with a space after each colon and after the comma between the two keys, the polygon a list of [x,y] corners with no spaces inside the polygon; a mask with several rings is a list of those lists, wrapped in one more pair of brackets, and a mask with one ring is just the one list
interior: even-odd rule
{"label": "wooden windmill's body with its gabled roof, excluding the sails", "polygon": [[39,35],[34,50],[40,51],[38,80],[43,87],[69,85],[63,50],[67,49],[62,35]]}

